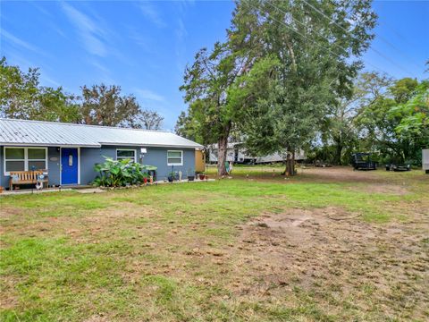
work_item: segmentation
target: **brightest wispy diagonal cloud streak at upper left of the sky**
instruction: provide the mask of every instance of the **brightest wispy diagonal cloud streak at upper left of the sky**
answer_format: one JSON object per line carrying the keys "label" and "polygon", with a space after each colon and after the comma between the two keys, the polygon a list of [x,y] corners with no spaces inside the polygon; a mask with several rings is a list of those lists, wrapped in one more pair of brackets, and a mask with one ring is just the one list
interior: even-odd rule
{"label": "brightest wispy diagonal cloud streak at upper left of the sky", "polygon": [[104,42],[105,32],[97,26],[97,22],[91,20],[88,15],[80,13],[70,4],[63,3],[63,10],[71,23],[79,30],[85,49],[93,55],[107,55],[108,51]]}

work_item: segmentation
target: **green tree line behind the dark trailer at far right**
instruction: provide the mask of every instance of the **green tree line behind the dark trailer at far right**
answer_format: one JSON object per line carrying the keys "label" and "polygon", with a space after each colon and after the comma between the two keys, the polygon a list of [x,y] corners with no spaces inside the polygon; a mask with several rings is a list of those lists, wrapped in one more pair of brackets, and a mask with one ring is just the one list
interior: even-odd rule
{"label": "green tree line behind the dark trailer at far right", "polygon": [[319,134],[313,159],[347,165],[353,151],[368,151],[381,163],[420,165],[422,148],[429,148],[429,80],[363,72],[352,96],[325,115]]}

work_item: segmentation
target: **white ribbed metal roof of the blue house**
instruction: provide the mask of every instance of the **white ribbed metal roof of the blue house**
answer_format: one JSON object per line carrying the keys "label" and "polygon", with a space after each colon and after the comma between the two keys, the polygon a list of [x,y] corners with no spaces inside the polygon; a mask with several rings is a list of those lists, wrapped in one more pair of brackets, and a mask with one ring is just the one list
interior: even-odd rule
{"label": "white ribbed metal roof of the blue house", "polygon": [[203,148],[169,131],[0,118],[0,145],[79,146],[135,145]]}

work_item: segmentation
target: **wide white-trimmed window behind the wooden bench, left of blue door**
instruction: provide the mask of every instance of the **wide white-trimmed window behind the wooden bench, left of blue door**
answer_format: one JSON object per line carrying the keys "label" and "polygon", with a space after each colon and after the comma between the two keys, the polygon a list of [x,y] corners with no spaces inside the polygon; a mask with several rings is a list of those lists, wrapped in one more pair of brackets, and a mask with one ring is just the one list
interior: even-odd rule
{"label": "wide white-trimmed window behind the wooden bench, left of blue door", "polygon": [[47,148],[4,147],[4,175],[47,169]]}

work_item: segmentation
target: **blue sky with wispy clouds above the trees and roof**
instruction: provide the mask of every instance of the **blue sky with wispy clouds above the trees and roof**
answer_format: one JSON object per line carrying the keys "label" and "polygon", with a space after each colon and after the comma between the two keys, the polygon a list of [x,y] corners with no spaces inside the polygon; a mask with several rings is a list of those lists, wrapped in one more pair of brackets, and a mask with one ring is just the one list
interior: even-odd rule
{"label": "blue sky with wispy clouds above the trees and roof", "polygon": [[[0,2],[0,55],[21,69],[39,67],[42,85],[105,82],[155,109],[171,130],[186,109],[179,91],[186,64],[200,47],[223,40],[230,1]],[[427,78],[429,1],[376,1],[379,15],[368,64],[391,76]],[[386,58],[387,57],[387,58]],[[374,70],[368,65],[369,70]]]}

